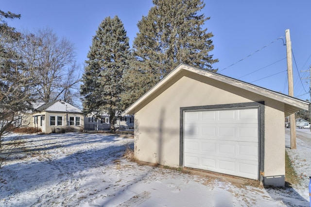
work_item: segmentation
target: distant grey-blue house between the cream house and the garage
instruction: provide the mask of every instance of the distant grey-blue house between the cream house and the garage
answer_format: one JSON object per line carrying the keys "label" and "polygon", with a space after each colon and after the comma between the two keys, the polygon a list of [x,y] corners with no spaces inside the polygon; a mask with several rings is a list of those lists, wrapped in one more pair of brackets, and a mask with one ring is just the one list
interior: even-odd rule
{"label": "distant grey-blue house between the cream house and the garage", "polygon": [[86,116],[84,120],[84,130],[85,131],[104,131],[110,130],[110,120],[109,115],[104,114],[99,118],[92,115]]}

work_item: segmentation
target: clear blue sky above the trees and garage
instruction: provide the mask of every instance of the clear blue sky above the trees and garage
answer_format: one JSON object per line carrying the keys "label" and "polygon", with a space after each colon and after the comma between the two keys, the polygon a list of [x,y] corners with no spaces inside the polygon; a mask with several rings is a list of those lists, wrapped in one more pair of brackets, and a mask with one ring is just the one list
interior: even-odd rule
{"label": "clear blue sky above the trees and garage", "polygon": [[[285,30],[294,53],[294,96],[310,100],[310,0],[205,0],[202,13],[212,32],[219,73],[288,94]],[[21,14],[7,22],[17,30],[49,27],[74,43],[82,64],[99,24],[118,15],[132,44],[137,23],[152,0],[0,0],[0,10]],[[281,38],[280,38],[281,37]],[[280,38],[280,39],[278,39]],[[245,58],[246,57],[246,58]],[[240,61],[242,60],[242,61]],[[301,78],[301,79],[300,79]]]}

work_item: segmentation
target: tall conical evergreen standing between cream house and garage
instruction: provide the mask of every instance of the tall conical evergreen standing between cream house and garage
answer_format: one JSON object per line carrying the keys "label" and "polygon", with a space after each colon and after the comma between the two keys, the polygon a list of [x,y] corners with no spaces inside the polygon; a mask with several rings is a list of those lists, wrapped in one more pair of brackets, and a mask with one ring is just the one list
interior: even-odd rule
{"label": "tall conical evergreen standing between cream house and garage", "polygon": [[112,129],[115,114],[121,109],[122,74],[130,59],[128,41],[119,17],[106,17],[93,37],[82,77],[84,113],[98,116],[108,112]]}

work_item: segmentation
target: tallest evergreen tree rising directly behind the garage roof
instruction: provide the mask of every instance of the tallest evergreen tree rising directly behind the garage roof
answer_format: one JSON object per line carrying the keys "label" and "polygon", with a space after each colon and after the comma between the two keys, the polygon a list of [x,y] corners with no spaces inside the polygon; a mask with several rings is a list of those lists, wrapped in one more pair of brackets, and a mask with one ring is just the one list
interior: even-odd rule
{"label": "tallest evergreen tree rising directly behind the garage roof", "polygon": [[209,54],[214,48],[213,35],[202,28],[209,17],[199,14],[205,7],[203,0],[153,0],[153,3],[148,16],[138,22],[139,33],[133,44],[137,61],[132,62],[132,71],[125,78],[139,88],[127,95],[133,98],[129,101],[132,103],[180,63],[217,71],[212,64],[218,60]]}

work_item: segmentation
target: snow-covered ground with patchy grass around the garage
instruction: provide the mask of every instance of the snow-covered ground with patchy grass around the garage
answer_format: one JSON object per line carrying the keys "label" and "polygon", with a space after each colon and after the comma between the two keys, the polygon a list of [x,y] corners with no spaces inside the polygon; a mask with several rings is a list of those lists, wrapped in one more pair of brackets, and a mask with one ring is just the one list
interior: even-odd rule
{"label": "snow-covered ground with patchy grass around the garage", "polygon": [[[311,139],[310,131],[306,135]],[[304,133],[304,132],[303,132]],[[311,142],[286,149],[302,177],[293,188],[231,183],[204,174],[140,165],[122,157],[134,140],[114,134],[20,136],[18,154],[0,169],[0,206],[283,207],[309,206]],[[308,142],[308,146],[306,144]],[[286,145],[289,146],[288,130]]]}

